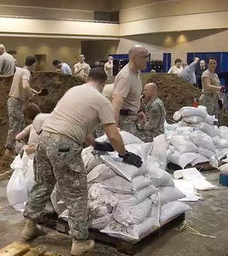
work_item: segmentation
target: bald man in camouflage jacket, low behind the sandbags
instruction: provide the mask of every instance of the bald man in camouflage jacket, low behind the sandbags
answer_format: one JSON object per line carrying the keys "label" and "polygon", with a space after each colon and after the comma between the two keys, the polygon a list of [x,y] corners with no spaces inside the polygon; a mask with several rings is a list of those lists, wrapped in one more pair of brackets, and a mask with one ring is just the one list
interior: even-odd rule
{"label": "bald man in camouflage jacket, low behind the sandbags", "polygon": [[157,85],[148,83],[144,87],[141,108],[147,113],[147,121],[138,125],[138,136],[144,142],[151,142],[153,138],[165,133],[164,123],[166,110],[163,102],[158,98]]}

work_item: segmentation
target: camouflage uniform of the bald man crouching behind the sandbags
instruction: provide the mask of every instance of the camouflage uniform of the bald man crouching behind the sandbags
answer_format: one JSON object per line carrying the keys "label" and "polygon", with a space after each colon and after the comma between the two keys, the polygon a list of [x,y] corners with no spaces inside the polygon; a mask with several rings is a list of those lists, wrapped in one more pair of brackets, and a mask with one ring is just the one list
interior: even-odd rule
{"label": "camouflage uniform of the bald man crouching behind the sandbags", "polygon": [[141,109],[144,110],[147,117],[145,124],[139,125],[137,136],[144,142],[151,142],[153,138],[165,133],[166,110],[163,102],[154,97],[151,101],[142,101]]}

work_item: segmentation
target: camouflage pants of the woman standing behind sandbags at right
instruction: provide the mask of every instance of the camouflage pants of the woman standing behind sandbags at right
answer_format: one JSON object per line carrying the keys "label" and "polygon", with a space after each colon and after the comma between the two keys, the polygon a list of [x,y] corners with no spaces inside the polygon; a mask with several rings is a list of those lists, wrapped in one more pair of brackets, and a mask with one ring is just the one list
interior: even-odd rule
{"label": "camouflage pants of the woman standing behind sandbags at right", "polygon": [[200,105],[204,105],[208,111],[208,115],[218,117],[218,94],[205,93],[200,96]]}

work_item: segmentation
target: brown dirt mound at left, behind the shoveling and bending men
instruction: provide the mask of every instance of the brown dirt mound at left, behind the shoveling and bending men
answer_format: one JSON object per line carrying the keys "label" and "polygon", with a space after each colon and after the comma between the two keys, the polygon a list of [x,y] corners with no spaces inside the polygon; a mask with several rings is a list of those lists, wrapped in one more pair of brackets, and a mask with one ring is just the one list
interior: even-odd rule
{"label": "brown dirt mound at left, behind the shoveling and bending men", "polygon": [[[4,151],[8,131],[7,99],[13,76],[0,76],[0,155]],[[57,72],[34,72],[31,75],[31,88],[39,91],[47,88],[49,95],[36,97],[35,103],[44,113],[51,112],[63,94],[73,86],[82,85],[84,80],[76,76],[62,75]]]}

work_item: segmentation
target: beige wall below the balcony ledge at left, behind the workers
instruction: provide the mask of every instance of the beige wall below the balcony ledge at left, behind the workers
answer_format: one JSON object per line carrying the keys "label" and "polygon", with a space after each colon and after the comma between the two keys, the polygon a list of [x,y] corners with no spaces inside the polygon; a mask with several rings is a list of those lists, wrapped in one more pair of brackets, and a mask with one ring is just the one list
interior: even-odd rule
{"label": "beige wall below the balcony ledge at left, behind the workers", "polygon": [[46,70],[54,70],[52,60],[59,59],[67,62],[71,68],[77,61],[81,52],[79,39],[57,38],[6,38],[0,37],[0,43],[4,44],[8,51],[17,51],[18,67],[25,64],[25,57],[30,54],[46,54]]}

